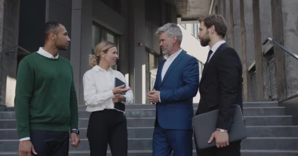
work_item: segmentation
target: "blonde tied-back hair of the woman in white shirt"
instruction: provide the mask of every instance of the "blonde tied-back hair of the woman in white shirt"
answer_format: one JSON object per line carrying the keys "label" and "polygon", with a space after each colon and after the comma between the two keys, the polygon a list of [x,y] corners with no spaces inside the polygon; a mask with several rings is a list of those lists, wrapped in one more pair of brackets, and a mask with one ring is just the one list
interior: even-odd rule
{"label": "blonde tied-back hair of the woman in white shirt", "polygon": [[94,54],[89,55],[89,66],[93,68],[94,66],[99,64],[100,60],[100,53],[104,52],[106,53],[108,49],[115,47],[116,45],[109,41],[101,41],[99,44],[95,46]]}

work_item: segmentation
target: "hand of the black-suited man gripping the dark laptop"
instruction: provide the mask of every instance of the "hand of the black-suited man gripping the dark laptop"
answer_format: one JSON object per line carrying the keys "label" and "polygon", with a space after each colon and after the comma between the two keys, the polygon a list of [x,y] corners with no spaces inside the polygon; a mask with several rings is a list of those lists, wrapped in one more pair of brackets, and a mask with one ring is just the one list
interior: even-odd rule
{"label": "hand of the black-suited man gripping the dark laptop", "polygon": [[211,137],[209,138],[208,143],[211,143],[212,140],[215,138],[215,145],[217,148],[223,148],[229,145],[229,135],[227,131],[221,132],[216,130]]}

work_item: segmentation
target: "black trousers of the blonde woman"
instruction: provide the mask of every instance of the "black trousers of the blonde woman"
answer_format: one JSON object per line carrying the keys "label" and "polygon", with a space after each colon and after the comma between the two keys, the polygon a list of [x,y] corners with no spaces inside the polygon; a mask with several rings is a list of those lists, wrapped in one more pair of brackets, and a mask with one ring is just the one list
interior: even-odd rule
{"label": "black trousers of the blonde woman", "polygon": [[117,110],[104,109],[92,112],[87,138],[90,156],[106,156],[108,144],[112,156],[127,156],[126,117]]}

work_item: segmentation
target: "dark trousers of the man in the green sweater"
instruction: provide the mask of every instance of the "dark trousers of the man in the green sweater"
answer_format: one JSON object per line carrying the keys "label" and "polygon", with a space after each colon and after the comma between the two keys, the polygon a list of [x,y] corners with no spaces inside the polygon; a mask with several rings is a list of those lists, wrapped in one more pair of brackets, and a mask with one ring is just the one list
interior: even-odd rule
{"label": "dark trousers of the man in the green sweater", "polygon": [[69,132],[31,130],[30,140],[37,156],[68,156]]}

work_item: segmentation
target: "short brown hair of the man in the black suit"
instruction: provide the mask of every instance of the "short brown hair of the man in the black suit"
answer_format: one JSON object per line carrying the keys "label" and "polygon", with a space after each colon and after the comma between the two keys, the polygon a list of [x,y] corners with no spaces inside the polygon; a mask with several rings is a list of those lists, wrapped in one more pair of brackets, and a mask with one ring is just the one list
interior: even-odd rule
{"label": "short brown hair of the man in the black suit", "polygon": [[214,25],[217,34],[223,38],[225,37],[227,26],[222,15],[209,15],[205,18],[199,19],[200,23],[202,21],[207,28],[210,28],[212,25]]}

